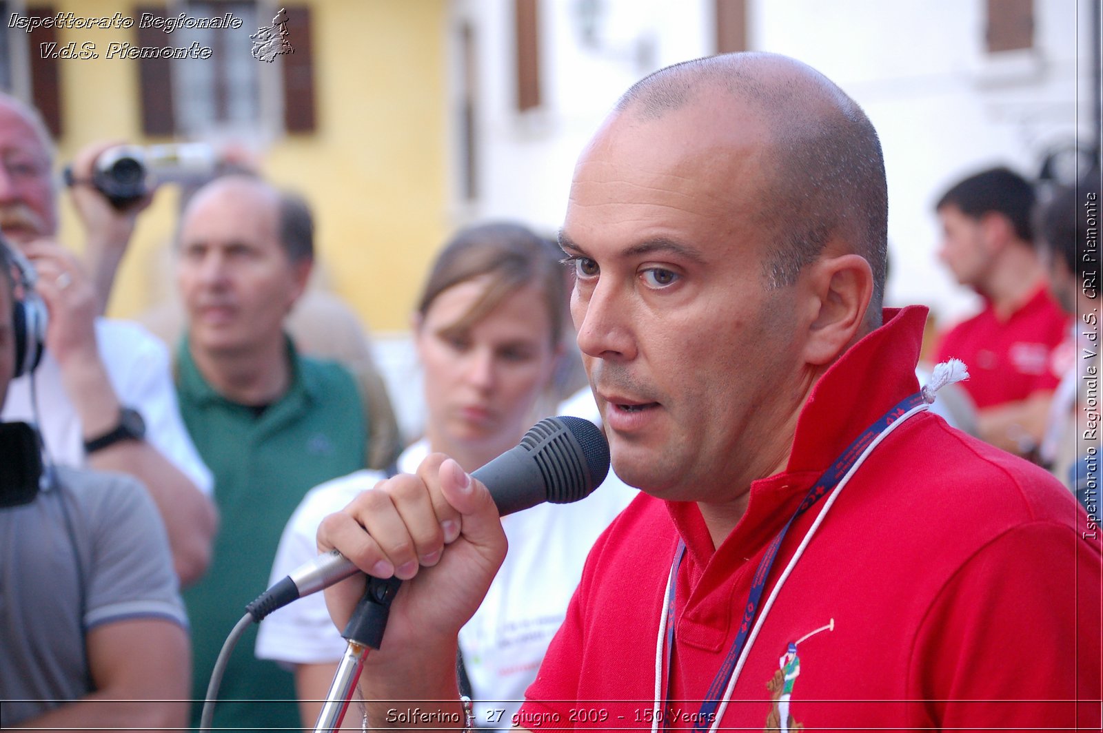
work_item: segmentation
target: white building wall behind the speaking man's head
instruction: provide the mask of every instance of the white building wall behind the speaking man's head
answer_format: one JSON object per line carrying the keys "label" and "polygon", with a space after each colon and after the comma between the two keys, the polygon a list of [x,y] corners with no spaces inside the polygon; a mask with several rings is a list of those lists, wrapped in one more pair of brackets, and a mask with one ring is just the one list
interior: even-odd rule
{"label": "white building wall behind the speaking man's head", "polygon": [[[516,112],[512,0],[457,0],[479,29],[482,196],[461,220],[520,218],[555,231],[578,153],[612,103],[644,74],[713,51],[711,0],[606,0],[598,35],[582,45],[577,0],[543,0],[544,104]],[[1028,176],[1046,150],[1074,137],[1078,33],[1090,41],[1086,0],[1036,0],[1035,50],[984,52],[984,0],[758,0],[753,50],[822,71],[865,109],[885,148],[889,180],[891,301],[922,302],[943,320],[974,305],[938,263],[931,211],[957,179],[1008,164]],[[1079,19],[1078,12],[1084,18]],[[639,64],[641,44],[652,48]],[[1090,60],[1081,60],[1088,100]]]}

